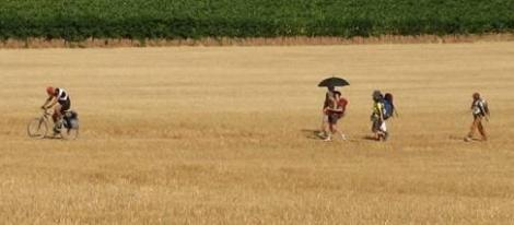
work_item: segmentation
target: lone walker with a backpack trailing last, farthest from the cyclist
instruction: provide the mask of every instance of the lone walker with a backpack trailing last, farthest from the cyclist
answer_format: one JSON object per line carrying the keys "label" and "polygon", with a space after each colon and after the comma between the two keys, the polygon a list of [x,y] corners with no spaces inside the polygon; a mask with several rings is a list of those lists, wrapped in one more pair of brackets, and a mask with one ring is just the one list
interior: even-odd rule
{"label": "lone walker with a backpack trailing last, farthest from the cyclist", "polygon": [[471,141],[477,130],[481,135],[481,141],[487,141],[488,137],[486,133],[486,128],[483,128],[482,125],[482,119],[489,120],[490,114],[487,102],[480,97],[479,93],[472,94],[471,114],[474,120],[469,133],[465,138],[465,141]]}

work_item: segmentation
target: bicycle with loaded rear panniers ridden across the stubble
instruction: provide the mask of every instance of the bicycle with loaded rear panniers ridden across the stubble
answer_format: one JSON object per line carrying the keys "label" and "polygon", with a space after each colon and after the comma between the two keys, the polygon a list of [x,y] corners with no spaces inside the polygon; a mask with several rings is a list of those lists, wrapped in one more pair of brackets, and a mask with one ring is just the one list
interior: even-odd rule
{"label": "bicycle with loaded rear panniers ridden across the stubble", "polygon": [[[38,118],[34,118],[28,122],[27,134],[30,138],[44,139],[48,138],[48,130],[50,125],[54,125],[50,120],[51,112],[43,110],[43,115]],[[75,140],[79,138],[79,118],[75,111],[65,111],[62,118],[62,125],[57,128],[57,132],[54,132],[54,137],[60,135],[65,140]]]}

